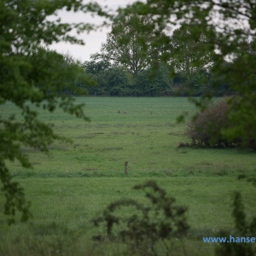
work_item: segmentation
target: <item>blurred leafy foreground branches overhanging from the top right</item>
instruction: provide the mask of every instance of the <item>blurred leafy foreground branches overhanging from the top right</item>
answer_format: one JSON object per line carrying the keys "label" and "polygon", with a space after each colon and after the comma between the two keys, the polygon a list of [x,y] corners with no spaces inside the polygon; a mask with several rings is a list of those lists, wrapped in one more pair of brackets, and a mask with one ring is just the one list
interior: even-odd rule
{"label": "blurred leafy foreground branches overhanging from the top right", "polygon": [[[201,50],[215,51],[212,55],[211,72],[224,78],[224,83],[236,91],[229,101],[229,129],[222,131],[230,140],[243,137],[247,142],[256,138],[256,3],[244,0],[147,0],[136,2],[125,9],[119,9],[119,16],[145,15],[154,23],[154,28],[164,27],[165,31],[188,28],[189,38],[183,38],[189,43],[190,38],[197,41],[204,33],[207,42],[201,44]],[[134,25],[136,26],[136,25]],[[140,29],[140,27],[138,27]],[[142,32],[139,30],[138,32]],[[168,61],[172,37],[162,33],[155,47],[164,49],[160,55],[162,61]],[[247,40],[250,39],[250,49]],[[193,50],[193,48],[191,49]],[[224,67],[224,60],[230,59],[231,65]],[[195,67],[200,67],[200,59],[195,59]],[[207,95],[211,97],[211,95]],[[195,102],[204,108],[206,97]]]}

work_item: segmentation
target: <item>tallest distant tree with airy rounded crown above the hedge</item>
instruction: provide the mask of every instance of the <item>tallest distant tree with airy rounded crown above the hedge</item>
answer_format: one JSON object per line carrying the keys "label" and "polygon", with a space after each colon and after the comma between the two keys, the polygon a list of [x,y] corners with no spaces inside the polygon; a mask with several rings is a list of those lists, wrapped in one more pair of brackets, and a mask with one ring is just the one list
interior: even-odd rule
{"label": "tallest distant tree with airy rounded crown above the hedge", "polygon": [[114,65],[122,65],[137,75],[149,67],[155,55],[154,42],[159,30],[153,31],[152,25],[147,17],[132,14],[115,20],[101,52],[91,55],[91,59],[112,61]]}

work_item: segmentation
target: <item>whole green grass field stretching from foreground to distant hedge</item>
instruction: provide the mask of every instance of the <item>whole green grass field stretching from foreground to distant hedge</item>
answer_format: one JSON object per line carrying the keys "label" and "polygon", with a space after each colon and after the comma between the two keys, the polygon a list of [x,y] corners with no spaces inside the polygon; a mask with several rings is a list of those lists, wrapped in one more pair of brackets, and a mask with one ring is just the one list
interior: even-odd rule
{"label": "whole green grass field stretching from foreground to distant hedge", "polygon": [[[95,247],[90,237],[99,230],[90,220],[112,201],[143,200],[132,187],[149,179],[177,204],[189,207],[188,255],[213,255],[214,244],[203,243],[202,237],[215,236],[220,229],[234,230],[234,191],[241,191],[248,219],[255,215],[255,189],[237,180],[239,174],[255,176],[255,152],[177,148],[178,143],[189,143],[186,125],[176,124],[178,114],[195,112],[187,98],[79,97],[77,102],[86,103],[90,123],[59,109],[55,113],[38,109],[39,119],[53,123],[55,133],[73,143],[56,141],[49,154],[23,147],[33,169],[8,163],[32,201],[33,218],[9,227],[0,194],[0,255],[126,255],[122,245]],[[16,113],[20,119],[10,103],[0,113],[3,117]]]}

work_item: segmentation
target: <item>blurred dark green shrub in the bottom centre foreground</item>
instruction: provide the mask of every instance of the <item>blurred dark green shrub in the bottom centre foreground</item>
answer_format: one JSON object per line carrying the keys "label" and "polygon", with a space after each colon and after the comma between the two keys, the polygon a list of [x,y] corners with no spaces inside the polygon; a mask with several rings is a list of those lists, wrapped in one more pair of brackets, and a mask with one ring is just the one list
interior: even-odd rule
{"label": "blurred dark green shrub in the bottom centre foreground", "polygon": [[[143,205],[131,199],[113,202],[102,217],[94,220],[96,226],[106,227],[107,234],[94,238],[115,241],[118,237],[130,245],[134,253],[159,255],[164,248],[165,255],[169,255],[173,249],[170,240],[185,235],[189,229],[184,216],[187,208],[174,205],[175,199],[166,196],[166,191],[154,181],[137,185],[134,189],[146,190],[149,204]],[[128,209],[120,211],[124,207]],[[127,213],[127,210],[132,213]]]}

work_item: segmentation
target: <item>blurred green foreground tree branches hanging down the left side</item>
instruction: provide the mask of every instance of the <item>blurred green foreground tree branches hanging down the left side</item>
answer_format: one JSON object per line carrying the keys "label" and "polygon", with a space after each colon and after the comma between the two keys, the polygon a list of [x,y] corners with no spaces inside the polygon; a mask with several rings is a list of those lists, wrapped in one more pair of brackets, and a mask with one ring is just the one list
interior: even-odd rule
{"label": "blurred green foreground tree branches hanging down the left side", "polygon": [[87,85],[93,82],[79,65],[41,47],[41,44],[61,41],[83,44],[68,32],[92,29],[89,24],[47,20],[49,15],[55,15],[61,9],[101,13],[97,4],[84,5],[82,0],[0,2],[0,104],[12,102],[22,115],[21,121],[15,119],[15,114],[6,118],[0,116],[0,179],[6,196],[4,212],[9,215],[10,223],[15,221],[16,210],[22,213],[23,221],[30,216],[30,212],[23,189],[12,181],[5,161],[19,160],[22,166],[31,167],[21,146],[40,148],[45,152],[55,139],[63,139],[55,135],[51,125],[41,122],[35,108],[30,108],[27,103],[31,102],[49,112],[58,106],[64,112],[88,120],[83,104],[76,105],[72,97],[58,97],[58,94],[63,87],[85,94],[82,87],[75,86],[71,81],[78,80]]}

